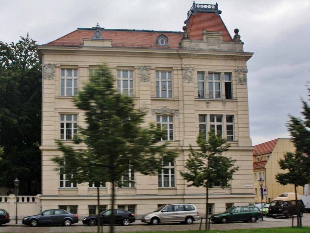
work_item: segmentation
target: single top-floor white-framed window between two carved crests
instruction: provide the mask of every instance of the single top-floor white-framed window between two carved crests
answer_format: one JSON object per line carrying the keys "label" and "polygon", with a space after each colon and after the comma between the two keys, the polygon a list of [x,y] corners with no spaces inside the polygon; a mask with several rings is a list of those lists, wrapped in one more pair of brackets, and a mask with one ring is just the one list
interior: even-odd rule
{"label": "single top-floor white-framed window between two carved crests", "polygon": [[156,71],[156,97],[172,98],[171,71]]}

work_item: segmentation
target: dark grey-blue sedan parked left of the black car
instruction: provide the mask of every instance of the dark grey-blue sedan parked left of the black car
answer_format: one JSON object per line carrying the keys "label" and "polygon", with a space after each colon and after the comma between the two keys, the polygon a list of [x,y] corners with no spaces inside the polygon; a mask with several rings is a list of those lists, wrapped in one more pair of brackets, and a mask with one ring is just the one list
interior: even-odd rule
{"label": "dark grey-blue sedan parked left of the black car", "polygon": [[23,218],[23,224],[35,227],[37,225],[59,225],[69,227],[78,222],[78,215],[64,209],[48,209],[38,215]]}

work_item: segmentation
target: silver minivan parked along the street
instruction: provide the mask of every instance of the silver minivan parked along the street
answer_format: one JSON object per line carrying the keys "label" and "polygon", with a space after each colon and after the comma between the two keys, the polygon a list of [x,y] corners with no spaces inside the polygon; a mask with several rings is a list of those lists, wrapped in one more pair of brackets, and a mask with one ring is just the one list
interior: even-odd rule
{"label": "silver minivan parked along the street", "polygon": [[199,213],[193,204],[162,205],[153,212],[144,214],[141,222],[157,225],[160,222],[184,222],[192,224],[199,220]]}

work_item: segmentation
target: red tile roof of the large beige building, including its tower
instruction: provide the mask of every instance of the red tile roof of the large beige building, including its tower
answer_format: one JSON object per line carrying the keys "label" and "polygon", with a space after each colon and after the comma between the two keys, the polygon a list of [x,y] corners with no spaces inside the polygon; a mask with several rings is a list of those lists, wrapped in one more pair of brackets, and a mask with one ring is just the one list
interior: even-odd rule
{"label": "red tile roof of the large beige building, including its tower", "polygon": [[[195,12],[187,21],[189,38],[202,40],[202,32],[213,31],[223,33],[223,41],[232,42],[232,37],[219,15],[213,12]],[[78,28],[46,45],[83,46],[83,39],[91,39],[97,28]],[[183,32],[162,32],[149,30],[105,29],[99,28],[104,39],[112,40],[113,47],[145,47],[180,49]],[[168,47],[157,46],[157,37],[164,34],[168,37]]]}

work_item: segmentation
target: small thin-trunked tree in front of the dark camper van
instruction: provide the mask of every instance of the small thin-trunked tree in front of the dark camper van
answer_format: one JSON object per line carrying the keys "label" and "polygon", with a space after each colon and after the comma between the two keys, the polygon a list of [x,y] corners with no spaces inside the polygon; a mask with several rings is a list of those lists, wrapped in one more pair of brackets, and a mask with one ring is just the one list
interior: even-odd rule
{"label": "small thin-trunked tree in front of the dark camper van", "polygon": [[[294,184],[295,200],[297,203],[297,187],[305,186],[310,183],[308,175],[308,167],[304,163],[306,156],[301,152],[287,152],[284,155],[284,159],[279,160],[279,166],[282,170],[286,170],[287,173],[278,173],[276,175],[277,182],[280,184]],[[296,212],[299,213],[298,205],[296,205]],[[297,226],[302,227],[301,218],[297,214]]]}

